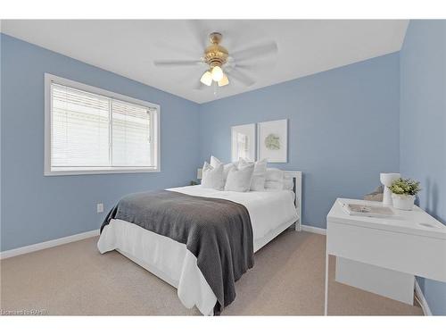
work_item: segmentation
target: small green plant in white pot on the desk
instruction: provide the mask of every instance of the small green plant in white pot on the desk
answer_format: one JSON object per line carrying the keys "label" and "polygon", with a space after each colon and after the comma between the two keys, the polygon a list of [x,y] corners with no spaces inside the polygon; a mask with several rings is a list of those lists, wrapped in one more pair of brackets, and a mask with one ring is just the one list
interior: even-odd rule
{"label": "small green plant in white pot on the desk", "polygon": [[393,207],[404,211],[411,211],[415,196],[420,191],[419,181],[402,179],[393,180],[389,189],[392,191]]}

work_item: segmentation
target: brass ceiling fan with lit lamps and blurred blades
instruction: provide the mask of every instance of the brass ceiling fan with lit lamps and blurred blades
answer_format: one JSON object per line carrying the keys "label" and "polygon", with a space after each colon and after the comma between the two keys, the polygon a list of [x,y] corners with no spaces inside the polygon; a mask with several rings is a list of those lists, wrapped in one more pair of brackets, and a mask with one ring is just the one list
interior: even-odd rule
{"label": "brass ceiling fan with lit lamps and blurred blades", "polygon": [[[238,81],[245,86],[252,86],[255,80],[245,71],[255,68],[253,60],[277,53],[277,43],[272,41],[260,46],[253,46],[233,54],[229,54],[224,46],[220,45],[223,36],[219,32],[209,35],[211,45],[204,49],[200,60],[164,60],[154,61],[155,66],[195,66],[205,64],[208,70],[202,73],[197,89],[211,86],[215,83],[219,87],[227,86],[229,80]],[[249,61],[249,65],[242,63]],[[204,85],[204,86],[203,86]]]}

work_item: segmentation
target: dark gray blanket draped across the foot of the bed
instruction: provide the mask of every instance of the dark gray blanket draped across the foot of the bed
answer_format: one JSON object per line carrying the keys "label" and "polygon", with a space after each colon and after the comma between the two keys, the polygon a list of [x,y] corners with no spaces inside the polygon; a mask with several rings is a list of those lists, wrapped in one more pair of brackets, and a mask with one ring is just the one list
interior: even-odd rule
{"label": "dark gray blanket draped across the foot of the bed", "polygon": [[214,313],[235,299],[235,281],[252,268],[252,225],[244,205],[173,191],[130,194],[105,218],[132,222],[186,244],[217,297]]}

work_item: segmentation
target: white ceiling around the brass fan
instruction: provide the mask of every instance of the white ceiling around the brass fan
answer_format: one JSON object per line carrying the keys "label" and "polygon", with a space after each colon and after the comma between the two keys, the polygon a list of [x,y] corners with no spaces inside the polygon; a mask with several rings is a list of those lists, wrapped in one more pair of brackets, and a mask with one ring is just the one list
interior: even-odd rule
{"label": "white ceiling around the brass fan", "polygon": [[[197,103],[233,96],[401,49],[406,20],[94,20],[2,21],[5,34],[82,62],[113,71]],[[277,42],[275,56],[255,61],[255,84],[231,81],[224,88],[194,89],[204,65],[155,67],[153,60],[197,59],[206,36],[223,34],[229,54],[263,42]],[[235,60],[236,61],[236,60]],[[244,65],[249,63],[244,63]],[[248,72],[247,72],[248,73]]]}

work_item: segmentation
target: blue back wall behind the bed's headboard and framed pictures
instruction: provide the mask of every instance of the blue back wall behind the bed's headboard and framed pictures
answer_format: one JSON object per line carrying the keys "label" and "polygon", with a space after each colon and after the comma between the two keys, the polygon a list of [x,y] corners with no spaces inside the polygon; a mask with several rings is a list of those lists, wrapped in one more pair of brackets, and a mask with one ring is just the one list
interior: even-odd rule
{"label": "blue back wall behind the bed's headboard and framed pictures", "polygon": [[399,80],[388,54],[200,105],[202,160],[230,160],[233,125],[288,119],[288,163],[275,165],[303,172],[303,223],[325,228],[336,197],[399,170]]}

